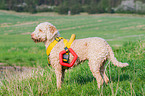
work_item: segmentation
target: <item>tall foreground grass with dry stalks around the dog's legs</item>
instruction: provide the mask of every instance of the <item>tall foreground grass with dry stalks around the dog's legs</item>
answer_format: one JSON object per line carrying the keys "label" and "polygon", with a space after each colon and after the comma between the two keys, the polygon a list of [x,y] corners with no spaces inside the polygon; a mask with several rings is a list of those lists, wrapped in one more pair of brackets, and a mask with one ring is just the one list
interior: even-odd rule
{"label": "tall foreground grass with dry stalks around the dog's legs", "polygon": [[114,49],[115,56],[129,66],[118,68],[110,62],[106,64],[106,74],[110,79],[108,85],[100,89],[93,77],[88,62],[67,70],[60,90],[56,88],[54,69],[38,68],[33,71],[5,76],[2,81],[2,95],[46,95],[46,96],[144,96],[145,95],[145,42],[125,43],[123,47]]}

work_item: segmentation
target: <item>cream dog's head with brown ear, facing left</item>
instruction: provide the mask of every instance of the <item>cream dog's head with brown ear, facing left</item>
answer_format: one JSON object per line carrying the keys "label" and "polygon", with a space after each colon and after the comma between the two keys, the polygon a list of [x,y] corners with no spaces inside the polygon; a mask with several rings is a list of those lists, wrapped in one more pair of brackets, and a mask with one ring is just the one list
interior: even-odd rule
{"label": "cream dog's head with brown ear, facing left", "polygon": [[40,23],[31,34],[34,42],[45,42],[52,40],[55,36],[59,36],[59,32],[55,26],[48,22]]}

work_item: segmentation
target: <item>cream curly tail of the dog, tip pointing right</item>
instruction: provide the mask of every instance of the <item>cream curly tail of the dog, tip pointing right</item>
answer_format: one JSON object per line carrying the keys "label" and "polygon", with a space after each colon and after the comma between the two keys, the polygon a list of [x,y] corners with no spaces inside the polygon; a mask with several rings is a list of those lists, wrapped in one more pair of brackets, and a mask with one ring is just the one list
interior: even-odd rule
{"label": "cream curly tail of the dog, tip pointing right", "polygon": [[112,48],[109,46],[109,44],[108,44],[108,50],[109,50],[109,57],[108,57],[108,59],[114,64],[114,66],[117,66],[117,67],[126,67],[126,66],[129,65],[128,63],[121,63],[121,62],[117,61],[117,59],[114,57],[114,53],[112,51]]}

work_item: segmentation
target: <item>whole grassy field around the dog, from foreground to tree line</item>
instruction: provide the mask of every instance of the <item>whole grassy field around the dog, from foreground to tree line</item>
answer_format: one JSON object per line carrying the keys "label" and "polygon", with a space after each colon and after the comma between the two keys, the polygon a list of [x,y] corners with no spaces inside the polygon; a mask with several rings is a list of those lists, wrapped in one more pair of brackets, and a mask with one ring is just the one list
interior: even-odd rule
{"label": "whole grassy field around the dog, from foreground to tree line", "polygon": [[[58,96],[144,96],[145,95],[145,16],[98,14],[63,16],[53,13],[26,14],[0,11],[0,63],[3,66],[35,67],[36,70],[5,75],[2,95]],[[101,37],[113,48],[116,58],[128,62],[126,68],[108,64],[108,85],[97,88],[87,65],[68,70],[60,90],[56,88],[54,69],[47,66],[43,43],[35,44],[30,33],[41,22],[54,24],[62,37],[77,39]],[[109,63],[109,62],[108,62]],[[38,69],[37,69],[38,68]]]}

